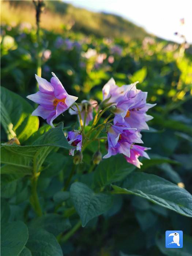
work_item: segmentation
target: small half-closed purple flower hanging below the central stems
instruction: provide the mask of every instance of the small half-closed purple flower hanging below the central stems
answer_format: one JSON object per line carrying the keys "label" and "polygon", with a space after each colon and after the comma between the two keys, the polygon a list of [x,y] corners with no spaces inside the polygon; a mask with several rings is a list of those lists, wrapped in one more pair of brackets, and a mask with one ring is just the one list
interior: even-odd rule
{"label": "small half-closed purple flower hanging below the central stems", "polygon": [[71,131],[67,135],[68,143],[74,148],[69,150],[69,155],[74,155],[75,150],[81,151],[82,135],[79,132]]}

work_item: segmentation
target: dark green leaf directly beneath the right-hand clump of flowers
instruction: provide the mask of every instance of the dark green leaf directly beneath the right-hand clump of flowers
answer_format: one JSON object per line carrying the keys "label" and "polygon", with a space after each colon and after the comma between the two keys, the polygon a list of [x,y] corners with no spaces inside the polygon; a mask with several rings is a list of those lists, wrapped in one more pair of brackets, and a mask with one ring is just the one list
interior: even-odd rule
{"label": "dark green leaf directly beneath the right-hand clump of flowers", "polygon": [[116,155],[102,160],[95,169],[94,183],[99,187],[105,187],[112,182],[123,180],[135,169],[128,163],[123,155]]}

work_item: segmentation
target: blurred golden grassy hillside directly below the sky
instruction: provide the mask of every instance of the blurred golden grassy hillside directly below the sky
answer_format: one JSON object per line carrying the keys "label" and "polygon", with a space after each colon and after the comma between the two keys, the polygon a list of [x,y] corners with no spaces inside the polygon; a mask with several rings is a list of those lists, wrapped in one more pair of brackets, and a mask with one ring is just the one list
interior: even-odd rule
{"label": "blurred golden grassy hillside directly below the sky", "polygon": [[[35,26],[35,10],[32,1],[1,1],[1,22],[7,24],[29,22]],[[148,33],[132,22],[113,14],[96,13],[63,1],[45,1],[41,27],[62,33],[63,28],[97,37],[143,39]]]}

